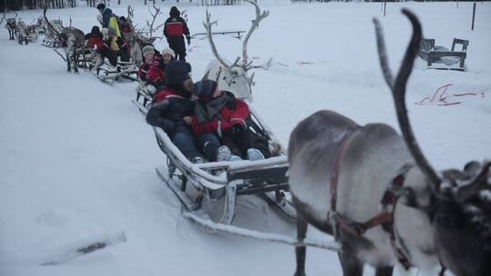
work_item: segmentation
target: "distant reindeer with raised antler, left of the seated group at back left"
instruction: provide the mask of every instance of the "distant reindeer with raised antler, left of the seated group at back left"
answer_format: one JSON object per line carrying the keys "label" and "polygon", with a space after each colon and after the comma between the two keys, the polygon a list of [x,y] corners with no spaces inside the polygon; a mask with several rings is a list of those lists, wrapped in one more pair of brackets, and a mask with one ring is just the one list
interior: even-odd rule
{"label": "distant reindeer with raised antler, left of the seated group at back left", "polygon": [[[45,22],[48,28],[56,34],[59,39],[59,43],[65,49],[65,61],[66,61],[66,72],[72,72],[71,63],[74,64],[74,71],[78,73],[78,57],[79,53],[84,53],[85,47],[85,34],[81,30],[74,28],[72,26],[65,27],[62,29],[61,34],[56,31],[56,29],[51,25],[46,17],[47,5],[43,8],[43,15],[45,16]],[[62,56],[63,57],[63,56]]]}

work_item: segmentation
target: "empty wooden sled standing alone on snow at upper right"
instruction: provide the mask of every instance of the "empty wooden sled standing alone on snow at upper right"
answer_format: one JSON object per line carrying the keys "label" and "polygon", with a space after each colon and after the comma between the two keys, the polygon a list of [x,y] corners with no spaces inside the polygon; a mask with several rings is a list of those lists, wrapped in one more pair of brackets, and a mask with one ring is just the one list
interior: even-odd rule
{"label": "empty wooden sled standing alone on snow at upper right", "polygon": [[[456,51],[456,45],[462,45],[461,51]],[[452,49],[436,45],[435,39],[423,39],[419,57],[427,63],[427,69],[466,71],[466,56],[468,40],[454,38]]]}

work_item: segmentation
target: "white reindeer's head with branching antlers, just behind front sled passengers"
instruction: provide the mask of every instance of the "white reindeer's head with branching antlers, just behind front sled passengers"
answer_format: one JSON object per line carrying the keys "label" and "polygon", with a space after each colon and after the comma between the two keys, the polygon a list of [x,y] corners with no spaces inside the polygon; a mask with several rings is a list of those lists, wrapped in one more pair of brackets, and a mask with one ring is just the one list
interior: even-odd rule
{"label": "white reindeer's head with branching antlers, just behind front sled passengers", "polygon": [[203,23],[203,25],[205,25],[208,41],[210,42],[211,49],[213,54],[215,54],[216,60],[208,64],[203,79],[214,80],[216,83],[218,83],[218,87],[221,90],[231,92],[238,98],[252,100],[251,86],[254,85],[254,74],[249,76],[248,72],[249,70],[255,68],[266,69],[271,60],[267,64],[253,65],[252,61],[248,61],[247,43],[251,34],[253,34],[254,30],[256,30],[258,27],[259,22],[265,19],[266,16],[269,15],[269,12],[264,11],[261,13],[261,9],[256,2],[249,0],[246,0],[246,2],[256,7],[256,18],[252,20],[251,28],[247,32],[246,38],[242,43],[242,61],[240,60],[240,57],[237,57],[233,64],[218,54],[212,34],[212,25],[215,25],[216,21],[210,22],[211,15],[208,13],[208,11],[206,11],[206,21]]}

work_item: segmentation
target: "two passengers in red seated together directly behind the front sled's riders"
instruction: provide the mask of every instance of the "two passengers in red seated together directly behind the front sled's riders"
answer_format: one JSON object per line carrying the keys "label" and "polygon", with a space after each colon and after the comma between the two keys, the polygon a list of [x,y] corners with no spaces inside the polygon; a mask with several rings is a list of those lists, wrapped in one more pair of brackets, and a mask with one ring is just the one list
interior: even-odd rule
{"label": "two passengers in red seated together directly behind the front sled's riders", "polygon": [[[165,87],[165,66],[174,60],[174,52],[171,49],[164,49],[162,55],[155,50],[154,46],[146,45],[142,49],[144,63],[138,70],[138,77],[144,85],[151,90],[151,94],[160,91]],[[148,86],[152,85],[152,86]]]}

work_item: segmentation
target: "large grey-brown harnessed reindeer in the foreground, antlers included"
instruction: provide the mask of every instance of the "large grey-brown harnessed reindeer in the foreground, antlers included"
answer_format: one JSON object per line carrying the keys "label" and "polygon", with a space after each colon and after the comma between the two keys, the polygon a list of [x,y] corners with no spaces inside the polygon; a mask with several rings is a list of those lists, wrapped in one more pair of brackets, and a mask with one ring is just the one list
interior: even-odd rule
{"label": "large grey-brown harnessed reindeer in the foreground, antlers included", "polygon": [[[402,13],[413,34],[395,81],[374,19],[402,137],[384,123],[360,126],[326,110],[298,123],[288,147],[297,238],[305,239],[308,224],[334,235],[349,276],[361,276],[364,263],[384,276],[392,275],[397,262],[430,271],[440,261],[456,275],[491,275],[491,200],[481,193],[491,190],[491,163],[472,162],[464,171],[438,174],[426,161],[405,103],[422,31],[416,15]],[[297,247],[295,275],[305,275],[305,261],[306,247]]]}

